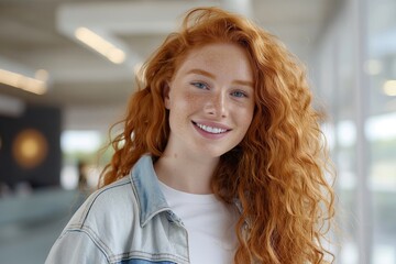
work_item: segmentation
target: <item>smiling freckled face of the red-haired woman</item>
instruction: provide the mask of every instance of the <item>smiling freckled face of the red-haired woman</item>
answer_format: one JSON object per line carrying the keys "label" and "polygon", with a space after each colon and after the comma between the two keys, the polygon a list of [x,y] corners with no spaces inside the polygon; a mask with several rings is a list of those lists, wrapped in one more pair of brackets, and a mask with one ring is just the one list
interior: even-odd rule
{"label": "smiling freckled face of the red-haired woman", "polygon": [[253,118],[253,75],[245,51],[229,43],[193,50],[168,84],[166,152],[219,157],[244,138]]}

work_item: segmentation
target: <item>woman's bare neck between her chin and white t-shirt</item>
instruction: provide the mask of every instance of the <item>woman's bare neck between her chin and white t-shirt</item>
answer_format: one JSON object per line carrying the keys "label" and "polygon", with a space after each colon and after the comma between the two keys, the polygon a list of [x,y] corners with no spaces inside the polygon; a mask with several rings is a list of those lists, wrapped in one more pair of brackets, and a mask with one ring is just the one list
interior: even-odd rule
{"label": "woman's bare neck between her chin and white t-shirt", "polygon": [[160,180],[167,186],[190,194],[212,194],[210,182],[219,157],[202,158],[165,153],[154,164]]}

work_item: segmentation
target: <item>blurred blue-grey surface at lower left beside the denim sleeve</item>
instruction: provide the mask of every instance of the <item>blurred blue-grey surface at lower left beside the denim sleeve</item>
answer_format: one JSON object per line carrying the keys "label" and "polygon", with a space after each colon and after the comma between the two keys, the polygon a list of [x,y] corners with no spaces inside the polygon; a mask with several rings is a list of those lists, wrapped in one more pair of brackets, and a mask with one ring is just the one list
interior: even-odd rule
{"label": "blurred blue-grey surface at lower left beside the denim sleeve", "polygon": [[0,198],[0,264],[43,264],[86,196],[46,189]]}

